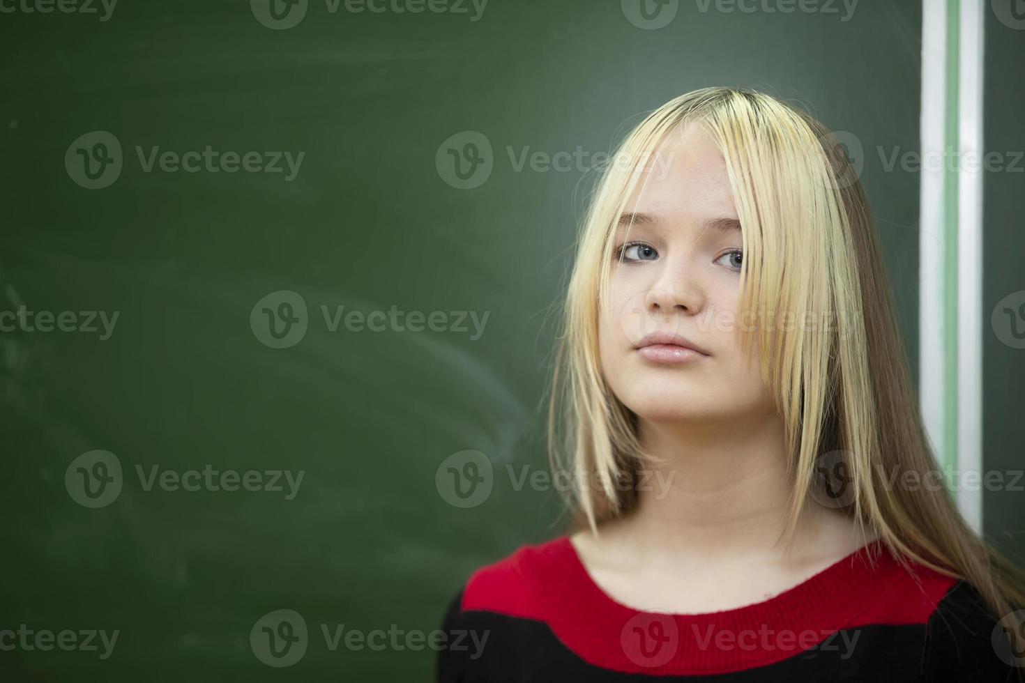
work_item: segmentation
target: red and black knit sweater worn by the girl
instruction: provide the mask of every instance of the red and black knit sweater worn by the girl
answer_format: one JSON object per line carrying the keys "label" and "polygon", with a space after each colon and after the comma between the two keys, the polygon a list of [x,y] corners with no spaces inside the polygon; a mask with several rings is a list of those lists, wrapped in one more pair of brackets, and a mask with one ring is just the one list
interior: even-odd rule
{"label": "red and black knit sweater worn by the girl", "polygon": [[611,598],[567,537],[525,546],[478,569],[452,600],[437,680],[1019,680],[970,586],[873,550],[764,602],[666,614]]}

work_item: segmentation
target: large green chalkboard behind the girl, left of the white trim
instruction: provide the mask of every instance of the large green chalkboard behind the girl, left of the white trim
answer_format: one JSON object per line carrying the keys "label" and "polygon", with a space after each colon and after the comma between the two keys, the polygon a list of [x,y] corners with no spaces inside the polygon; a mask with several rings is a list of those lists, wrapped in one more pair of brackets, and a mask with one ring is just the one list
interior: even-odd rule
{"label": "large green chalkboard behind the girl, left of the white trim", "polygon": [[596,156],[688,90],[862,141],[915,356],[873,151],[917,144],[919,3],[273,2],[0,3],[3,680],[428,680],[344,634],[562,532],[524,476]]}

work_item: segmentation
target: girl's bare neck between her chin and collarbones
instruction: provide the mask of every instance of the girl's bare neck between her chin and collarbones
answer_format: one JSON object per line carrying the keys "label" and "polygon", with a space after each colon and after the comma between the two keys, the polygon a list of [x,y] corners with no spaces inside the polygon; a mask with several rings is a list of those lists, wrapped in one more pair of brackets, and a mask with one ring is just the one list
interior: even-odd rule
{"label": "girl's bare neck between her chin and collarbones", "polygon": [[610,526],[649,561],[803,561],[843,556],[864,541],[850,520],[809,501],[793,545],[781,543],[792,482],[778,415],[739,425],[642,420],[639,436],[661,464],[642,471],[638,505]]}

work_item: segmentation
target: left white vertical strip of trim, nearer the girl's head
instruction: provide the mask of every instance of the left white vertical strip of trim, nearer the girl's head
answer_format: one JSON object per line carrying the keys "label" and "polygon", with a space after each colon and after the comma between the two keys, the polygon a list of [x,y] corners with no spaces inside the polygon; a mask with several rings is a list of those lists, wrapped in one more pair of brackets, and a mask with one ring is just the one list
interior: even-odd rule
{"label": "left white vertical strip of trim, nearer the girl's head", "polygon": [[[943,159],[945,0],[921,3],[921,158]],[[938,155],[938,157],[937,157]],[[943,170],[922,164],[918,186],[918,400],[933,453],[943,459]]]}

